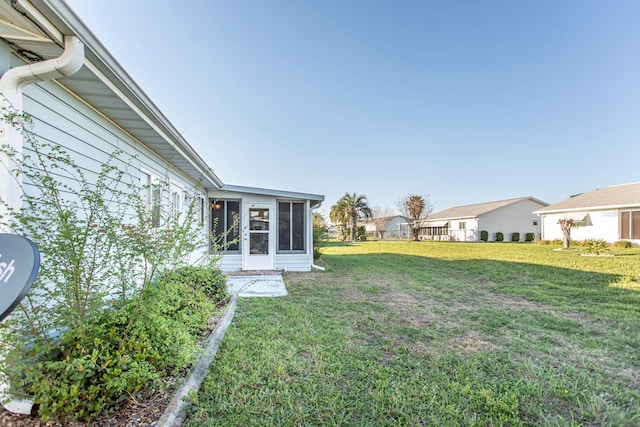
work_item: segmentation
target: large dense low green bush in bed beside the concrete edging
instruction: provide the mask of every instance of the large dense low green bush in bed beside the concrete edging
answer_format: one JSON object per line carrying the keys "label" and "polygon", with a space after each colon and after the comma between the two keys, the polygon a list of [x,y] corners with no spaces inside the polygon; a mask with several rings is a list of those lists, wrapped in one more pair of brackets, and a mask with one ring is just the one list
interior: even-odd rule
{"label": "large dense low green bush in bed beside the concrete edging", "polygon": [[130,396],[144,399],[162,377],[193,363],[213,309],[201,290],[155,281],[139,298],[63,333],[55,346],[34,347],[19,366],[18,385],[44,420],[108,414]]}

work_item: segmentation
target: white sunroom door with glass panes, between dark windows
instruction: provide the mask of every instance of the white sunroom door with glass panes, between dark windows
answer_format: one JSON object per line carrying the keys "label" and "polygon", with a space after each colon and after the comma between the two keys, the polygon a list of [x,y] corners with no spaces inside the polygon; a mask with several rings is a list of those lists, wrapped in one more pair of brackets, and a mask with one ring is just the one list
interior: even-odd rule
{"label": "white sunroom door with glass panes, between dark windows", "polygon": [[273,270],[275,242],[273,239],[273,207],[269,204],[247,203],[244,207],[242,236],[243,270]]}

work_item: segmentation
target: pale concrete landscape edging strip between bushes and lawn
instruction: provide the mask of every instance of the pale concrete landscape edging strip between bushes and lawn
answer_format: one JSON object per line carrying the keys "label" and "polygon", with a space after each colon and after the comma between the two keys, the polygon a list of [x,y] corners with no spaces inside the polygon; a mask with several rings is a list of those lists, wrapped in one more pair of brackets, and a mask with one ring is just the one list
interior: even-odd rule
{"label": "pale concrete landscape edging strip between bushes and lawn", "polygon": [[218,347],[224,338],[224,334],[227,328],[231,324],[233,315],[236,311],[237,295],[233,295],[229,304],[222,315],[222,318],[213,329],[207,342],[205,344],[202,357],[198,364],[191,370],[187,376],[184,384],[176,391],[171,399],[171,402],[167,405],[162,416],[156,423],[156,427],[178,427],[182,424],[185,418],[185,408],[188,405],[186,397],[189,393],[197,393],[202,385],[202,381],[207,375],[209,366],[213,362],[213,358],[218,352]]}

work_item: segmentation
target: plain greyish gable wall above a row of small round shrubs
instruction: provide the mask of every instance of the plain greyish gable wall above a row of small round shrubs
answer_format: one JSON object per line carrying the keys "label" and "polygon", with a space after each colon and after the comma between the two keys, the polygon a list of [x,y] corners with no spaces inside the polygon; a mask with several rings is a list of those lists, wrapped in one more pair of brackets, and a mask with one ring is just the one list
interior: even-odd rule
{"label": "plain greyish gable wall above a row of small round shrubs", "polygon": [[[539,237],[540,218],[533,212],[544,207],[530,199],[523,199],[495,211],[487,212],[479,217],[478,239],[480,231],[489,233],[489,241],[495,241],[496,233],[502,232],[505,241],[511,241],[511,234],[520,233],[520,240],[524,241],[526,233],[535,233]],[[538,225],[533,225],[537,222]]]}

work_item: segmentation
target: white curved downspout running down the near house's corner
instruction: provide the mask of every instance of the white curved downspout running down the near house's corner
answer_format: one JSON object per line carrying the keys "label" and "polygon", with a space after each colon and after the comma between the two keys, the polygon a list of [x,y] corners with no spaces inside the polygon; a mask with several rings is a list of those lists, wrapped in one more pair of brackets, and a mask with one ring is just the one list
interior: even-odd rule
{"label": "white curved downspout running down the near house's corner", "polygon": [[[22,92],[31,83],[54,80],[76,73],[84,64],[84,44],[75,36],[64,36],[64,51],[57,58],[12,68],[0,78],[1,113],[22,113]],[[7,145],[22,156],[22,133],[8,123],[0,124],[0,146]],[[11,174],[10,158],[0,153],[0,197],[15,210],[22,207],[22,182]],[[9,212],[0,206],[0,217]],[[0,227],[1,231],[10,231]],[[33,402],[6,395],[9,384],[0,378],[2,405],[10,412],[30,414]]]}

